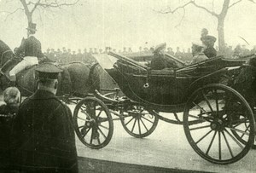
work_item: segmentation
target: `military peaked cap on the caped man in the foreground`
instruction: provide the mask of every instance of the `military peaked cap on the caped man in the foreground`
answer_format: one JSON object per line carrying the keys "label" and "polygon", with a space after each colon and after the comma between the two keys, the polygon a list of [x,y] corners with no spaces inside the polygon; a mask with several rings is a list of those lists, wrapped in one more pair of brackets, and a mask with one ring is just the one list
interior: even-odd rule
{"label": "military peaked cap on the caped man in the foreground", "polygon": [[58,75],[62,70],[51,63],[44,63],[36,67],[35,69],[38,72],[39,78],[49,78],[55,79],[58,78]]}

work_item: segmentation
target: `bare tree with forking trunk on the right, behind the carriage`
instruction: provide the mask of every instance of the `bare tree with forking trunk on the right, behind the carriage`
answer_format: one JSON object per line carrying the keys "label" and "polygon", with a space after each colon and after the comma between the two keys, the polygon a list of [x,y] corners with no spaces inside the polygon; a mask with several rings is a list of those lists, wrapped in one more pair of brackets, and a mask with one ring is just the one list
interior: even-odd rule
{"label": "bare tree with forking trunk on the right, behind the carriage", "polygon": [[[190,0],[188,3],[184,3],[181,6],[178,6],[176,9],[171,9],[170,7],[168,7],[166,10],[160,11],[160,13],[162,14],[174,14],[175,12],[177,12],[177,10],[179,9],[183,9],[183,16],[185,14],[185,8],[188,7],[189,5],[193,5],[198,9],[204,10],[205,12],[207,12],[208,14],[211,14],[212,16],[216,17],[216,19],[218,20],[218,26],[217,26],[217,31],[218,31],[218,47],[220,49],[220,51],[224,50],[224,45],[225,45],[225,41],[224,41],[224,20],[228,14],[228,10],[232,7],[234,7],[236,4],[241,3],[242,1],[245,0],[237,0],[234,3],[230,3],[230,0],[224,0],[223,4],[222,4],[222,9],[220,10],[220,13],[217,14],[214,12],[214,10],[211,9],[207,9],[207,7],[204,7],[198,3],[195,3],[195,0]],[[250,1],[252,3],[255,3],[253,0],[247,0]],[[214,0],[212,0],[212,3],[214,3]]]}

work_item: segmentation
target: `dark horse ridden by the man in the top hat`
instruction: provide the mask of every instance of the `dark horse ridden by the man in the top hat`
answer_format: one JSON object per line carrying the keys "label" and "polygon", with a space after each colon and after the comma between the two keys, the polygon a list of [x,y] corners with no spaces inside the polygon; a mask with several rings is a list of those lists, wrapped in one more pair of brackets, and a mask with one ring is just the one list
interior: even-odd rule
{"label": "dark horse ridden by the man in the top hat", "polygon": [[[0,87],[10,86],[9,71],[19,63],[19,58],[6,43],[0,40]],[[36,66],[31,66],[16,74],[16,86],[22,96],[32,95],[37,87]],[[83,62],[73,62],[59,66],[63,71],[58,78],[57,96],[84,97],[100,88],[100,73],[95,66]]]}

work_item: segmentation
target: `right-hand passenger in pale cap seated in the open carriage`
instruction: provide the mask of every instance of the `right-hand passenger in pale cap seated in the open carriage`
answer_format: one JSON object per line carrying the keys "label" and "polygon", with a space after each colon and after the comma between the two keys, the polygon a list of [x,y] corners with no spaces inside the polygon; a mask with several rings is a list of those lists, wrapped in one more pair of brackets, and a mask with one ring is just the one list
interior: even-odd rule
{"label": "right-hand passenger in pale cap seated in the open carriage", "polygon": [[190,64],[195,64],[208,59],[207,56],[203,53],[204,49],[204,45],[201,45],[199,43],[192,44],[193,60],[190,62]]}

